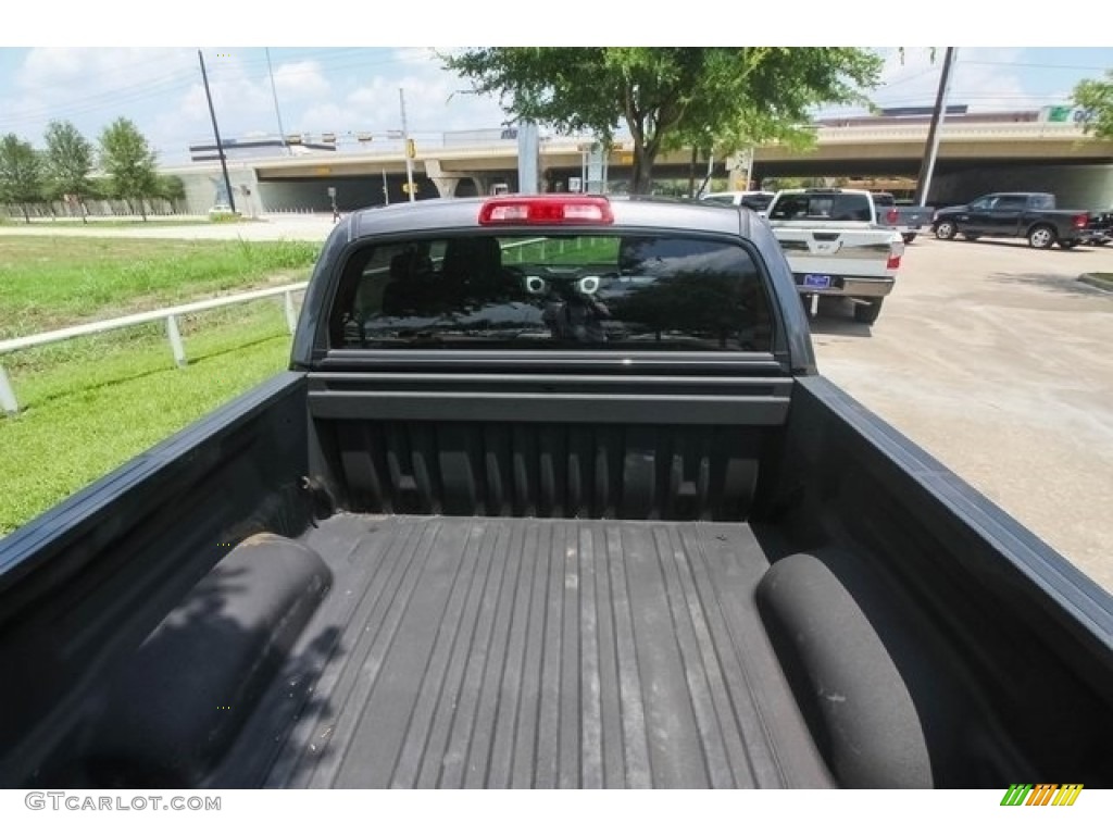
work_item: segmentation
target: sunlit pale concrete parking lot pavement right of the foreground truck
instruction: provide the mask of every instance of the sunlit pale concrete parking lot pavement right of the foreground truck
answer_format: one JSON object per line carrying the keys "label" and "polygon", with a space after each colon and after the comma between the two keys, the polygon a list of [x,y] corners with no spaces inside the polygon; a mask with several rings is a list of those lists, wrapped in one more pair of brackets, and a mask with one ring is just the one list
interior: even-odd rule
{"label": "sunlit pale concrete parking lot pavement right of the foreground truck", "polygon": [[812,321],[819,370],[1113,592],[1113,247],[907,247],[873,328]]}

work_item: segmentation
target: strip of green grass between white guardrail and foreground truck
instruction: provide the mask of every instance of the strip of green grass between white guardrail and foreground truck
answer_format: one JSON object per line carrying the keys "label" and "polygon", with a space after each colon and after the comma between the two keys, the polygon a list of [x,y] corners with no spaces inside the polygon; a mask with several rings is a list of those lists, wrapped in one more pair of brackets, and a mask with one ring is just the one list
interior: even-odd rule
{"label": "strip of green grass between white guardrail and foreground truck", "polygon": [[70,348],[67,362],[40,348],[28,352],[39,354],[32,362],[8,364],[23,411],[0,419],[0,536],[286,367],[279,304],[227,310],[186,317],[185,369],[157,330]]}

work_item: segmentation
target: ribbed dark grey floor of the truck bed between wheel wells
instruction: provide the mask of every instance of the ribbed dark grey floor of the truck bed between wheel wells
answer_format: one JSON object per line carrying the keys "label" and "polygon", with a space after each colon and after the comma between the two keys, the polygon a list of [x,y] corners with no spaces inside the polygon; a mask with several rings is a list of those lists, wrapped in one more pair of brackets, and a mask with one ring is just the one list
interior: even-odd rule
{"label": "ribbed dark grey floor of the truck bed between wheel wells", "polygon": [[246,729],[288,731],[266,785],[830,784],[746,524],[341,515],[305,541],[334,587]]}

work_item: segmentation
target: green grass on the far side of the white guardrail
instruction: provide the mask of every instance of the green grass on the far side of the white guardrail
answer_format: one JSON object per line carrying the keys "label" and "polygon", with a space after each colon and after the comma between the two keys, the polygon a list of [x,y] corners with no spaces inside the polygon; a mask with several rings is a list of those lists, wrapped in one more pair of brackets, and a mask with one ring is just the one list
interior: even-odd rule
{"label": "green grass on the far side of the white guardrail", "polygon": [[294,240],[0,237],[0,340],[308,275]]}

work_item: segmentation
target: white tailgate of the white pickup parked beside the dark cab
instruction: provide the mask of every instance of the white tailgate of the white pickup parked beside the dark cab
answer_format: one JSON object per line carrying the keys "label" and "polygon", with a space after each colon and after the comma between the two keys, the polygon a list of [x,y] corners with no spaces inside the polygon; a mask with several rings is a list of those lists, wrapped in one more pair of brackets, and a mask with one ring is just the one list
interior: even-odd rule
{"label": "white tailgate of the white pickup parked beside the dark cab", "polygon": [[890,255],[904,243],[892,229],[820,229],[774,227],[794,275],[894,277]]}

